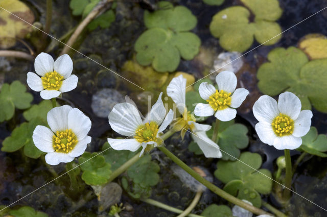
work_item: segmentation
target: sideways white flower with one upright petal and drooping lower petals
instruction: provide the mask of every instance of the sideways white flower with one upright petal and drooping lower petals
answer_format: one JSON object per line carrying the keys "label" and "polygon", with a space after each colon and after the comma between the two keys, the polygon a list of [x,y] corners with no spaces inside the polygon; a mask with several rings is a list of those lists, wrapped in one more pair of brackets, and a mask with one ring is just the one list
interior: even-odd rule
{"label": "sideways white flower with one upright petal and drooping lower petals", "polygon": [[185,87],[186,79],[182,75],[173,78],[167,87],[167,95],[175,102],[179,113],[183,117],[177,118],[174,123],[176,131],[181,130],[181,136],[184,137],[188,129],[192,131],[192,138],[198,144],[205,157],[221,158],[218,144],[209,139],[205,131],[211,129],[210,125],[198,124],[195,122],[195,117],[188,111],[185,106]]}

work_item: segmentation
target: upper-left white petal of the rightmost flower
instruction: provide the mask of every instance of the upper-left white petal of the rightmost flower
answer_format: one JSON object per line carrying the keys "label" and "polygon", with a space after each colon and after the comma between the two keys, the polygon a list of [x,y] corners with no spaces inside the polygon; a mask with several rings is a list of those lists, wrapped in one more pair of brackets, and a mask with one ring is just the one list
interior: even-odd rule
{"label": "upper-left white petal of the rightmost flower", "polygon": [[279,115],[277,102],[269,95],[262,95],[253,105],[253,115],[259,122],[271,124]]}

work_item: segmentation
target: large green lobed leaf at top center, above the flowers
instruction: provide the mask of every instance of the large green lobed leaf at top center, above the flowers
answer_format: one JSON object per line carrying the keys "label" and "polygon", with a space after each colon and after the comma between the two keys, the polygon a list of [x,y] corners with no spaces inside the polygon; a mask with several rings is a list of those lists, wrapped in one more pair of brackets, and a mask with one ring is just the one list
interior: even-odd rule
{"label": "large green lobed leaf at top center, above the flowers", "polygon": [[172,7],[170,3],[160,2],[153,13],[144,14],[148,28],[135,42],[136,60],[141,65],[152,64],[160,72],[174,71],[180,57],[191,60],[199,52],[200,38],[192,30],[196,17],[183,6]]}

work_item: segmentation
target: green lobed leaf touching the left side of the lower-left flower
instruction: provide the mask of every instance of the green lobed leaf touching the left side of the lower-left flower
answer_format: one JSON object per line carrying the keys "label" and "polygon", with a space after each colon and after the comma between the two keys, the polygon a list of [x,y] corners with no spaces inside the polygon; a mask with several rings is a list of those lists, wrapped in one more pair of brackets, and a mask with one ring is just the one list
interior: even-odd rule
{"label": "green lobed leaf touching the left side of the lower-left flower", "polygon": [[16,127],[11,135],[3,141],[3,152],[15,152],[24,147],[24,154],[30,158],[38,158],[43,152],[35,147],[32,139],[33,131],[37,125],[46,125],[46,122],[39,118],[34,117],[30,122],[22,123]]}

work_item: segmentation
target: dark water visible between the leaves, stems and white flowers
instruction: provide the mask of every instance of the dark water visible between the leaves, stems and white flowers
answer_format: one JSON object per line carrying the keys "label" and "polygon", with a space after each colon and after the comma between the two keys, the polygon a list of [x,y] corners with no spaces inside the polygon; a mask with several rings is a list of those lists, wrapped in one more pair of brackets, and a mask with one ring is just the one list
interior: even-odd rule
{"label": "dark water visible between the leaves, stems and white flowers", "polygon": [[[41,22],[45,19],[45,1],[30,0],[25,1],[30,6]],[[116,8],[116,20],[108,29],[97,29],[91,33],[83,33],[79,39],[78,50],[89,56],[90,58],[104,64],[110,69],[120,73],[121,66],[125,61],[133,58],[133,45],[135,40],[145,30],[143,25],[144,9],[139,7],[138,1],[124,1],[118,4]],[[287,30],[301,20],[309,17],[315,12],[327,6],[327,1],[313,1],[313,0],[281,0],[279,1],[281,7],[284,9],[282,17],[278,20],[283,30]],[[198,25],[193,30],[202,41],[204,47],[213,48],[217,53],[222,52],[219,47],[219,41],[213,38],[208,31],[209,23],[212,16],[219,10],[228,6],[240,4],[239,1],[225,1],[222,6],[207,6],[202,1],[173,1],[178,5],[188,7],[194,15],[198,18]],[[73,17],[68,8],[68,1],[54,1],[53,26],[51,34],[54,37],[61,37],[66,31],[74,28],[80,21],[80,17]],[[322,33],[327,35],[326,22],[327,9],[316,14],[315,16],[303,21],[296,27],[288,30],[283,34],[283,38],[278,43],[272,46],[260,46],[258,49],[246,54],[244,61],[253,70],[265,61],[266,55],[271,49],[278,46],[288,47],[295,46],[299,39],[309,33]],[[49,39],[50,41],[50,39]],[[254,43],[252,48],[258,46]],[[16,49],[24,49],[21,45],[17,45]],[[56,45],[52,51],[54,56],[60,53],[61,45]],[[259,58],[258,58],[259,57]],[[261,57],[261,59],[260,59]],[[258,60],[259,59],[259,60]],[[126,84],[111,73],[105,73],[103,68],[86,59],[79,54],[73,54],[74,73],[79,77],[79,86],[64,95],[68,104],[72,104],[81,109],[92,120],[92,129],[90,136],[97,137],[93,139],[88,146],[87,151],[99,151],[105,138],[113,136],[114,133],[110,130],[106,118],[97,117],[90,107],[91,97],[97,90],[101,88],[116,88],[122,94],[131,94],[133,92],[126,87]],[[3,70],[5,82],[12,82],[13,80],[20,80],[26,82],[26,73],[33,70],[33,63],[24,60],[10,59],[11,69]],[[185,71],[193,74],[196,78],[201,78],[201,67],[194,61],[181,61],[177,70]],[[0,74],[2,75],[2,74]],[[40,102],[39,93],[31,92],[34,95],[34,103]],[[10,135],[16,124],[24,121],[21,112],[16,111],[14,120],[0,124],[0,142]],[[327,115],[313,110],[314,116],[312,125],[318,129],[319,133],[327,133]],[[263,167],[273,171],[274,160],[283,155],[282,151],[277,151],[273,147],[261,143],[255,136],[253,125],[255,119],[251,113],[240,113],[237,122],[245,124],[249,129],[249,151],[258,152],[263,157]],[[211,123],[214,119],[208,119],[206,122]],[[211,161],[203,156],[195,156],[188,151],[188,144],[190,142],[190,135],[186,134],[183,141],[180,141],[178,135],[174,135],[166,144],[167,147],[189,165],[202,165],[207,167],[212,173],[216,169],[216,160]],[[291,152],[293,160],[295,160],[299,152]],[[168,163],[166,166],[160,168],[160,181],[153,188],[152,197],[158,201],[172,205],[176,208],[184,209],[191,202],[195,193],[182,184],[173,172],[170,170],[172,163],[165,159],[165,156],[157,153],[159,159]],[[159,162],[159,161],[158,161]],[[15,153],[0,153],[0,204],[9,205],[21,197],[29,194],[36,188],[42,186],[44,183],[53,179],[43,162],[38,159],[30,159],[24,157],[24,154],[17,151]],[[306,157],[299,165],[293,179],[293,187],[298,194],[309,200],[325,207],[327,202],[327,176],[326,176],[327,160],[319,157]],[[55,166],[57,173],[65,171],[64,165]],[[97,216],[98,202],[96,197],[84,204],[81,208],[76,210],[77,204],[81,202],[87,192],[92,191],[91,188],[86,188],[80,192],[79,195],[74,195],[67,189],[67,176],[61,177],[58,182],[52,182],[40,190],[34,192],[30,196],[20,200],[14,206],[29,205],[37,210],[44,211],[49,216]],[[214,183],[222,187],[219,180],[214,179]],[[265,197],[269,203],[279,207],[273,196]],[[133,208],[128,209],[121,216],[175,216],[168,211],[158,209],[154,206],[147,205],[130,199],[127,194],[123,193],[122,202],[125,205],[130,205]],[[226,201],[220,199],[211,192],[206,192],[199,204],[195,208],[195,213],[200,214],[202,210],[212,203],[224,203]],[[298,197],[292,197],[291,204],[287,206],[284,211],[289,216],[327,216],[325,211],[310,202]]]}

